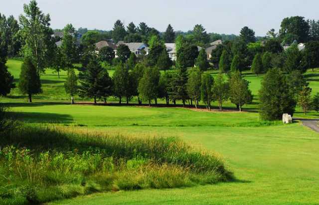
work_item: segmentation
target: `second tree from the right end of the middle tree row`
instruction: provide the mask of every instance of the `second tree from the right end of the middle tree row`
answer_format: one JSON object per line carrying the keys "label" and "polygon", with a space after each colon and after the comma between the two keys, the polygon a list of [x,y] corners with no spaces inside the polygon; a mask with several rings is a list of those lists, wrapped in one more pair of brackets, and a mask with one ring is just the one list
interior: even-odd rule
{"label": "second tree from the right end of the middle tree row", "polygon": [[229,97],[229,83],[224,80],[224,77],[219,73],[214,80],[212,88],[212,99],[218,101],[219,110],[223,110],[223,102]]}

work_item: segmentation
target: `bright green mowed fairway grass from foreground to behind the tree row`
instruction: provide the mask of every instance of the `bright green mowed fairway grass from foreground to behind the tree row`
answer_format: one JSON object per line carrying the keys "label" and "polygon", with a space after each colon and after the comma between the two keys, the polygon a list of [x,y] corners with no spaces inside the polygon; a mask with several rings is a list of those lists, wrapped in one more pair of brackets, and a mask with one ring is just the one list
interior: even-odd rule
{"label": "bright green mowed fairway grass from foreground to behind the tree row", "polygon": [[[17,65],[9,61],[9,70],[18,80]],[[42,79],[54,80],[47,71]],[[142,190],[100,193],[51,203],[52,205],[316,205],[319,204],[319,133],[296,122],[262,122],[257,105],[246,106],[250,112],[199,112],[183,108],[138,106],[68,105],[63,81],[46,83],[34,103],[25,102],[17,89],[1,102],[18,120],[34,125],[56,123],[77,129],[118,132],[128,135],[177,136],[194,146],[216,151],[225,159],[237,181],[183,189]],[[308,72],[314,93],[319,91],[319,73]],[[255,95],[260,80],[251,74]],[[50,87],[51,86],[51,87]],[[60,88],[56,88],[56,87]],[[56,92],[53,92],[56,89]],[[53,95],[54,94],[54,95]],[[42,97],[43,96],[43,97]],[[60,97],[58,97],[60,96]],[[255,96],[258,99],[258,96]],[[226,103],[233,108],[233,105]],[[249,108],[249,109],[248,109]],[[298,108],[297,116],[304,116]],[[312,112],[309,117],[318,114]]]}

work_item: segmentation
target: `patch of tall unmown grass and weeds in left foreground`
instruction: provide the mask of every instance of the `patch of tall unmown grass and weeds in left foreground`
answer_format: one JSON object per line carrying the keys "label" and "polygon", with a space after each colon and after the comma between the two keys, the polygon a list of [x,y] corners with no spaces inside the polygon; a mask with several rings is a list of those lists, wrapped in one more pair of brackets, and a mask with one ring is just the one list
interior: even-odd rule
{"label": "patch of tall unmown grass and weeds in left foreground", "polygon": [[217,154],[178,138],[127,137],[21,125],[0,137],[0,204],[233,179]]}

